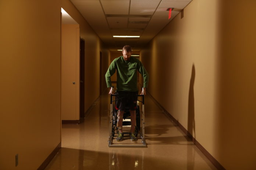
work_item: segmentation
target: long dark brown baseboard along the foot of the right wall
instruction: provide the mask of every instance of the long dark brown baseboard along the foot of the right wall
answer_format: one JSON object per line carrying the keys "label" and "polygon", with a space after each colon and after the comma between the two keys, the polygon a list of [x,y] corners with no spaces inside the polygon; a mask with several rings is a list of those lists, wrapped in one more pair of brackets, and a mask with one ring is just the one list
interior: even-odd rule
{"label": "long dark brown baseboard along the foot of the right wall", "polygon": [[188,132],[188,130],[186,130],[184,126],[181,125],[181,123],[179,123],[179,121],[177,121],[168,111],[166,111],[149,92],[147,92],[147,94],[152,98],[154,103],[156,103],[157,106],[161,108],[161,110],[163,110],[163,112],[186,134],[186,136],[196,145],[196,147],[198,147],[198,149],[218,170],[225,170],[225,168]]}

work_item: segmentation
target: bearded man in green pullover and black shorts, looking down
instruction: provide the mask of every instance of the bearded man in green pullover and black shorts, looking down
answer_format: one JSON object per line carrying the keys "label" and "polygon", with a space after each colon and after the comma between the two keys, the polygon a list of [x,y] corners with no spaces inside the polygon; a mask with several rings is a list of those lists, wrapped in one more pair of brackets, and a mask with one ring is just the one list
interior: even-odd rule
{"label": "bearded man in green pullover and black shorts, looking down", "polygon": [[[146,69],[143,67],[142,63],[131,57],[132,48],[129,45],[125,45],[122,49],[123,56],[120,56],[113,60],[110,64],[109,69],[105,75],[107,87],[110,88],[109,94],[111,94],[111,79],[110,77],[117,70],[117,101],[116,106],[118,108],[118,137],[117,141],[122,141],[124,134],[122,132],[122,121],[123,115],[125,111],[125,107],[129,107],[129,111],[131,114],[131,133],[130,138],[131,141],[136,141],[137,138],[134,134],[135,131],[135,123],[136,123],[136,104],[137,104],[137,70],[143,77],[143,91],[144,95],[146,95],[146,88],[148,84],[148,77]],[[142,95],[142,92],[141,92]]]}

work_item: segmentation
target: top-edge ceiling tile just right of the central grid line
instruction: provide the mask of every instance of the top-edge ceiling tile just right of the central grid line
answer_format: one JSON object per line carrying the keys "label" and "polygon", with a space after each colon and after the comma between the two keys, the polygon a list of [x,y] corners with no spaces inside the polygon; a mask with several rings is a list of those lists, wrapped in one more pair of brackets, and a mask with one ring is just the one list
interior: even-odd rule
{"label": "top-edge ceiling tile just right of the central grid line", "polygon": [[133,0],[131,1],[130,14],[153,14],[160,0]]}

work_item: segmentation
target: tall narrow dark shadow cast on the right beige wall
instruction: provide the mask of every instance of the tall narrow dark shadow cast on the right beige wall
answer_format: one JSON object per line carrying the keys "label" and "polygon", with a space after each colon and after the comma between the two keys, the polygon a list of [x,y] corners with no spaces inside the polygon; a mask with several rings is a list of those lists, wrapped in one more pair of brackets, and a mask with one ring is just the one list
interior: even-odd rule
{"label": "tall narrow dark shadow cast on the right beige wall", "polygon": [[194,98],[194,83],[195,83],[195,65],[192,66],[191,79],[188,93],[188,137],[192,138],[194,131],[194,138],[196,138],[195,132],[195,98]]}

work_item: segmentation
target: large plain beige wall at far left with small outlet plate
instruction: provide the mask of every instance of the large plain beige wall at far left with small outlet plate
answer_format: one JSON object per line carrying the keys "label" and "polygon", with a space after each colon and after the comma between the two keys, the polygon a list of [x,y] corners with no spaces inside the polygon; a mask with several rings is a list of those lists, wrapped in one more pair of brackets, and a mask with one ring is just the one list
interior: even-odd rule
{"label": "large plain beige wall at far left with small outlet plate", "polygon": [[1,170],[35,170],[61,142],[60,13],[60,0],[0,1]]}

